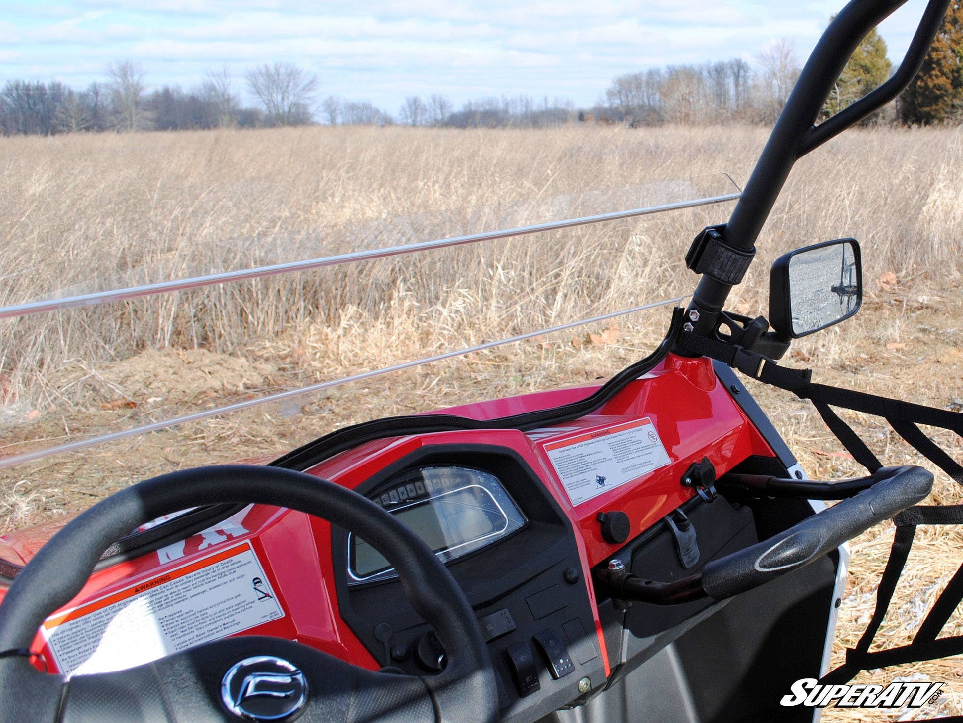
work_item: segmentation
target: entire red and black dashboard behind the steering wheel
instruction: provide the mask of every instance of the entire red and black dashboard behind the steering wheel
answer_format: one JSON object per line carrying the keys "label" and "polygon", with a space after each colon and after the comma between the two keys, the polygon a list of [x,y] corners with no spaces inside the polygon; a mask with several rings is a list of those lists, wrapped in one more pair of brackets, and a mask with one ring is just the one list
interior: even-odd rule
{"label": "entire red and black dashboard behind the steering wheel", "polygon": [[[510,408],[502,409],[508,402],[500,400],[483,409],[504,415],[585,394],[538,393],[510,400]],[[481,407],[451,412],[479,416]],[[596,601],[592,568],[618,557],[643,578],[690,575],[679,561],[678,538],[661,523],[674,510],[682,510],[697,533],[700,564],[752,544],[757,538],[747,509],[721,500],[704,505],[680,480],[704,457],[724,472],[771,454],[709,362],[670,358],[596,414],[564,426],[365,442],[305,471],[366,496],[428,544],[476,612],[495,667],[501,717],[531,721],[590,702],[654,655],[666,630],[709,612],[710,603],[626,610]],[[631,522],[627,539],[606,535],[602,521],[615,512]],[[27,530],[3,538],[3,559],[14,563],[10,577],[49,534]],[[171,576],[181,576],[183,586],[202,593],[192,592],[190,600],[208,601],[197,603],[197,620],[214,621],[203,605],[220,605],[226,615],[234,598],[213,587],[212,573],[242,565],[249,578],[237,583],[235,597],[250,602],[207,639],[281,637],[369,669],[410,675],[446,664],[446,652],[377,550],[337,525],[269,505],[198,508],[143,525],[105,554],[71,605],[93,610],[111,596],[164,590]],[[186,604],[169,614],[181,614]],[[255,605],[271,615],[250,617]],[[37,646],[52,651],[49,640]],[[132,646],[118,639],[118,667],[124,656],[140,655]],[[60,669],[56,656],[48,660]]]}

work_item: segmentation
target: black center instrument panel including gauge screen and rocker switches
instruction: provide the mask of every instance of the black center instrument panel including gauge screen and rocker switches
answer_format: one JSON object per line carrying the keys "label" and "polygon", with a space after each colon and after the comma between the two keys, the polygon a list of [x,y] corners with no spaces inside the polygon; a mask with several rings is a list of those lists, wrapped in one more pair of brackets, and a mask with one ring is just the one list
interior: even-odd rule
{"label": "black center instrument panel including gauge screen and rocker switches", "polygon": [[[503,719],[547,714],[604,683],[574,530],[534,469],[493,445],[433,445],[356,488],[448,564],[495,664]],[[405,603],[398,577],[356,535],[331,531],[342,619],[383,668],[425,675],[445,651]]]}

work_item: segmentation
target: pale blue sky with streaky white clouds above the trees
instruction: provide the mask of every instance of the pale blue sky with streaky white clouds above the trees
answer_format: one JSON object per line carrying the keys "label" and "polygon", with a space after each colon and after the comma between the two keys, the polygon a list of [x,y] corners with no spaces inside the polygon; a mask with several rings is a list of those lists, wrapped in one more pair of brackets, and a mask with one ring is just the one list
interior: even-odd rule
{"label": "pale blue sky with streaky white clouds above the trees", "polygon": [[[842,0],[3,0],[0,81],[102,80],[117,59],[151,86],[198,84],[227,67],[287,61],[324,94],[397,111],[409,94],[455,105],[497,94],[593,104],[615,75],[740,57],[794,40],[800,60]],[[923,0],[880,28],[897,63]]]}

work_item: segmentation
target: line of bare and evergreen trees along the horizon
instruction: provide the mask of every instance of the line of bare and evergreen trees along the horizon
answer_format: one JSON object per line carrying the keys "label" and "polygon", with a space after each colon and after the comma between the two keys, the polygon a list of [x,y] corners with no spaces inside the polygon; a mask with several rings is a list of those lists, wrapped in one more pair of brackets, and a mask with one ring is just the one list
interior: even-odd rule
{"label": "line of bare and evergreen trees along the horizon", "polygon": [[[666,66],[612,79],[590,108],[567,98],[503,95],[470,100],[455,110],[441,94],[409,95],[395,114],[366,100],[319,94],[319,77],[274,63],[248,68],[243,82],[258,104],[243,106],[226,69],[208,72],[195,89],[149,90],[143,68],[130,61],[107,67],[105,79],[75,91],[53,81],[11,80],[0,92],[0,132],[54,135],[77,131],[181,130],[330,125],[541,127],[567,122],[706,124],[774,121],[800,71],[794,45],[780,40],[756,56],[699,66]],[[857,47],[826,101],[827,118],[889,77],[886,42],[873,30]],[[867,122],[963,121],[963,2],[950,4],[924,66],[894,107]]]}

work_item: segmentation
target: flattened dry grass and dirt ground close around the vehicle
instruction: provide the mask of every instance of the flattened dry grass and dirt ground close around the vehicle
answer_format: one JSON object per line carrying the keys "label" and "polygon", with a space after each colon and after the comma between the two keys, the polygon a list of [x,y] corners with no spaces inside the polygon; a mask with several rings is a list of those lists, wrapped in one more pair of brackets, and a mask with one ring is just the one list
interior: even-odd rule
{"label": "flattened dry grass and dirt ground close around the vehicle", "polygon": [[[917,283],[904,289],[881,278],[861,313],[833,330],[799,340],[786,363],[815,369],[820,382],[922,402],[941,409],[963,409],[963,293],[935,293]],[[744,309],[747,310],[747,309]],[[667,309],[644,322],[628,321],[536,339],[463,360],[440,362],[268,405],[237,415],[213,417],[169,430],[91,447],[0,469],[0,527],[62,518],[131,482],[169,469],[280,453],[327,431],[382,415],[410,414],[481,398],[551,386],[584,384],[638,359],[664,329]],[[356,339],[364,343],[364,339]],[[3,422],[3,452],[11,454],[46,442],[77,439],[117,425],[143,425],[172,415],[191,414],[255,396],[317,381],[307,346],[274,344],[229,357],[202,349],[148,350],[96,369],[75,366],[58,386],[86,385],[86,406],[18,410]],[[314,371],[312,371],[314,369]],[[814,478],[837,479],[861,473],[807,403],[788,392],[750,383],[750,388]],[[881,419],[841,412],[887,464],[924,464]],[[957,460],[961,441],[931,431]],[[933,500],[963,500],[963,491],[940,473]],[[840,607],[834,663],[854,645],[872,614],[874,594],[893,537],[880,525],[851,544],[850,575]],[[921,528],[894,608],[877,640],[899,645],[912,637],[935,595],[963,560],[957,528]],[[957,612],[944,634],[963,634]],[[947,683],[934,707],[878,714],[875,720],[908,720],[963,712],[963,660],[950,658],[873,671],[859,683],[905,678]],[[827,710],[826,720],[868,719],[864,711]]]}

